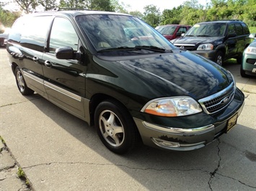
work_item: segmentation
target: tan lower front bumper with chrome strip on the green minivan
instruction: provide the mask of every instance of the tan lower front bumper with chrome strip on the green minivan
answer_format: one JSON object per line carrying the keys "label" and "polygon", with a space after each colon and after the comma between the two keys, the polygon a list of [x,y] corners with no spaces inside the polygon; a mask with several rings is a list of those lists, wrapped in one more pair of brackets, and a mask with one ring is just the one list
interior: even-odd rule
{"label": "tan lower front bumper with chrome strip on the green minivan", "polygon": [[[163,149],[190,151],[200,149],[216,138],[216,127],[213,124],[193,129],[180,129],[157,126],[134,118],[144,144]],[[219,126],[217,131],[225,129]]]}

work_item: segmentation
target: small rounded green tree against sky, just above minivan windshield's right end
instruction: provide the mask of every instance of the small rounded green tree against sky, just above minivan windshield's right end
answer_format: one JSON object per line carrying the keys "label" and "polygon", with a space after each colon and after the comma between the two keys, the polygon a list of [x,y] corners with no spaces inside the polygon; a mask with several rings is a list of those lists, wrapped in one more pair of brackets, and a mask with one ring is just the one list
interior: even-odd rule
{"label": "small rounded green tree against sky, just above minivan windshield's right end", "polygon": [[156,27],[160,22],[160,11],[154,5],[148,5],[144,7],[144,22],[151,25],[151,27]]}

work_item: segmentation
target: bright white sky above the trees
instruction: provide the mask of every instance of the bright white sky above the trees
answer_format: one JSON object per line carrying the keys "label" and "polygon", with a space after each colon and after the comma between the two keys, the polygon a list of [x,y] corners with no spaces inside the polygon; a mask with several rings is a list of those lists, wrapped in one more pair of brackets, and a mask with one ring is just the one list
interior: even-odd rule
{"label": "bright white sky above the trees", "polygon": [[[173,9],[174,7],[182,5],[187,0],[118,0],[121,4],[130,5],[131,8],[128,11],[141,11],[144,12],[144,6],[153,4],[156,8],[162,12],[164,9]],[[199,4],[206,6],[206,3],[210,0],[198,0]]]}

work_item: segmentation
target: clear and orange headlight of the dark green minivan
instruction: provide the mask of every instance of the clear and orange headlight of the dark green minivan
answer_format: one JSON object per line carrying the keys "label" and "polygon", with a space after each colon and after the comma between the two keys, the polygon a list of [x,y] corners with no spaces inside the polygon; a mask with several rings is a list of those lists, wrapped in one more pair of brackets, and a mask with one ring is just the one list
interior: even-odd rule
{"label": "clear and orange headlight of the dark green minivan", "polygon": [[149,101],[141,111],[156,116],[175,117],[199,113],[202,108],[193,98],[182,96]]}

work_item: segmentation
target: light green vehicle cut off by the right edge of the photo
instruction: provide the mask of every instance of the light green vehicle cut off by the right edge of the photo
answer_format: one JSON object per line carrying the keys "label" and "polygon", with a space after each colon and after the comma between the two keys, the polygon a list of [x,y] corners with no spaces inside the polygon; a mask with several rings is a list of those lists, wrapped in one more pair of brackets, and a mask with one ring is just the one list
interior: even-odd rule
{"label": "light green vehicle cut off by the right edge of the photo", "polygon": [[240,74],[242,77],[256,76],[256,34],[250,34],[254,41],[244,50]]}

